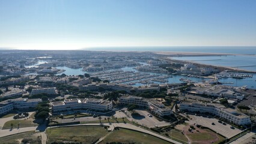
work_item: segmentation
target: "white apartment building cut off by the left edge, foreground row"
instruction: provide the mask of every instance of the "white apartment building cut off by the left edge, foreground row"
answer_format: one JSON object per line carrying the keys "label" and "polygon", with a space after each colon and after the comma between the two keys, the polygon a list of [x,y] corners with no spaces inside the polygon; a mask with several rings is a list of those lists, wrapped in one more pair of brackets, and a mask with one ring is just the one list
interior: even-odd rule
{"label": "white apartment building cut off by the left edge, foreground row", "polygon": [[16,98],[0,102],[0,115],[8,113],[13,109],[30,109],[37,106],[42,100],[40,98]]}

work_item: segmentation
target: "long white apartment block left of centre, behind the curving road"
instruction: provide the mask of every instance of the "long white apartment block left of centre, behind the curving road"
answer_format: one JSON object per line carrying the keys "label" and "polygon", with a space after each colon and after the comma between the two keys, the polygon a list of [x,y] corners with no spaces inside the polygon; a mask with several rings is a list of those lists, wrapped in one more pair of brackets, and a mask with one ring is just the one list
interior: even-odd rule
{"label": "long white apartment block left of centre, behind the curving road", "polygon": [[52,103],[52,112],[71,112],[73,110],[92,110],[106,112],[112,110],[112,101],[106,101],[96,98],[85,98],[80,100],[75,99],[66,99],[64,101],[58,101]]}

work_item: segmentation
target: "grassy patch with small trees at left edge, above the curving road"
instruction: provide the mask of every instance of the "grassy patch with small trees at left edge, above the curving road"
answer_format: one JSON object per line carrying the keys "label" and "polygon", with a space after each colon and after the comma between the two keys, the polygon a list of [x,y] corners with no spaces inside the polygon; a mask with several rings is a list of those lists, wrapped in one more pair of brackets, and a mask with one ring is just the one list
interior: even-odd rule
{"label": "grassy patch with small trees at left edge, above the curving road", "polygon": [[20,127],[33,127],[33,126],[37,126],[38,124],[35,124],[33,121],[30,120],[11,120],[8,122],[5,122],[4,127],[2,127],[2,129],[10,129],[11,128],[11,124],[13,124],[13,128],[17,128],[18,125],[20,123]]}

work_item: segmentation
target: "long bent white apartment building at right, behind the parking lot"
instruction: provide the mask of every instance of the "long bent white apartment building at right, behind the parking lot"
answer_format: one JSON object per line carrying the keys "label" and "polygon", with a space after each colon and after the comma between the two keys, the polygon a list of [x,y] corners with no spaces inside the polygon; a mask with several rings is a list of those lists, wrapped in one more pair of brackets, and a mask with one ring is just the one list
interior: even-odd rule
{"label": "long bent white apartment building at right, behind the parking lot", "polygon": [[219,116],[220,118],[227,119],[236,125],[251,124],[249,116],[237,112],[235,109],[226,108],[221,104],[215,103],[199,103],[193,102],[182,102],[180,104],[180,110],[184,112],[200,112],[200,113],[212,113],[213,115]]}

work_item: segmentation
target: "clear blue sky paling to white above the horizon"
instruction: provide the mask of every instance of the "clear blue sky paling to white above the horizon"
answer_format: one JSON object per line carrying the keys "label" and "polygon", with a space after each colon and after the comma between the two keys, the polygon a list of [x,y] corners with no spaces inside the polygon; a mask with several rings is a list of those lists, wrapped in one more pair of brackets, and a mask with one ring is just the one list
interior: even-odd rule
{"label": "clear blue sky paling to white above the horizon", "polygon": [[256,46],[254,0],[0,1],[0,47]]}

